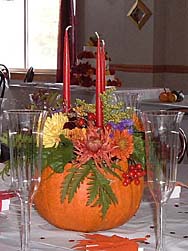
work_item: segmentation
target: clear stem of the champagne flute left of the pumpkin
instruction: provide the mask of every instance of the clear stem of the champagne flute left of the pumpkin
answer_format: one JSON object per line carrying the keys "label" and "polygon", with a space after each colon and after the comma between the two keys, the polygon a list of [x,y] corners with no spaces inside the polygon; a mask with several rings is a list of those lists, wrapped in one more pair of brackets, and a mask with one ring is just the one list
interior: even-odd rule
{"label": "clear stem of the champagne flute left of the pumpkin", "polygon": [[31,205],[21,199],[21,251],[30,251]]}

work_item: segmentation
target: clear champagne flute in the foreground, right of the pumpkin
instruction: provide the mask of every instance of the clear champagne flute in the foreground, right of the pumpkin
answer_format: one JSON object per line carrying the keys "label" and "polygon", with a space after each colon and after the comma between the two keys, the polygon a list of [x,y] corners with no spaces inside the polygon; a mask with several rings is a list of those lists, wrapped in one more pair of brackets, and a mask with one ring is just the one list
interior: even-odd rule
{"label": "clear champagne flute in the foreground, right of the pumpkin", "polygon": [[179,111],[145,111],[147,182],[156,204],[156,250],[164,251],[165,214],[167,203],[176,185],[179,154],[179,129],[184,113]]}

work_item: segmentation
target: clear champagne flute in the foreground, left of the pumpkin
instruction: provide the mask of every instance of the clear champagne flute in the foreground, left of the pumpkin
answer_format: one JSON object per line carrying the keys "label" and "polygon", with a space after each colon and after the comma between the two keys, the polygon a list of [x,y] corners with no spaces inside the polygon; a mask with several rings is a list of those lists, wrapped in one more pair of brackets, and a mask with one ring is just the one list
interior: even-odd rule
{"label": "clear champagne flute in the foreground, left of the pumpkin", "polygon": [[31,205],[40,182],[46,111],[8,110],[11,189],[21,201],[21,251],[30,250]]}

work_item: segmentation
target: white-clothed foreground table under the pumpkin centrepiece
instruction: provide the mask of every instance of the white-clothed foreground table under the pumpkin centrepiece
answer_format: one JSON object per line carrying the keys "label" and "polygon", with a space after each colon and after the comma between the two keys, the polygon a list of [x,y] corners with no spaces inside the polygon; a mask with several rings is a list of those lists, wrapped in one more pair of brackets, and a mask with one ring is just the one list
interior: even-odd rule
{"label": "white-clothed foreground table under the pumpkin centrepiece", "polygon": [[[188,183],[187,165],[178,167],[178,180]],[[147,192],[147,191],[146,191]],[[0,218],[0,250],[19,250],[19,214],[18,201],[12,199],[7,218]],[[154,203],[144,195],[136,215],[126,224],[108,231],[98,233],[104,235],[119,235],[128,238],[150,236],[147,244],[140,244],[144,251],[155,250],[155,229],[153,220]],[[166,251],[188,250],[188,189],[183,188],[181,197],[170,199],[167,205]],[[82,238],[82,233],[57,229],[42,219],[35,209],[32,209],[31,240],[32,250],[54,251],[73,250],[76,240]]]}

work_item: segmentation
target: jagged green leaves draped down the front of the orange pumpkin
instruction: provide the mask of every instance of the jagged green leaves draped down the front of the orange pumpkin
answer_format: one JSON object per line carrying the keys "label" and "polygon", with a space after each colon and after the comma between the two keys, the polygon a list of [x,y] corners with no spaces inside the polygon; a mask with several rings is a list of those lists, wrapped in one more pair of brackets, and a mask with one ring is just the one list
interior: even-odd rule
{"label": "jagged green leaves draped down the front of the orange pumpkin", "polygon": [[[106,169],[106,171],[112,173],[110,169]],[[113,174],[115,175],[115,172]],[[111,188],[110,180],[98,170],[91,159],[79,168],[70,168],[62,184],[61,199],[64,201],[68,197],[70,203],[86,178],[89,180],[87,206],[100,206],[104,218],[110,205],[117,203],[117,198]]]}

